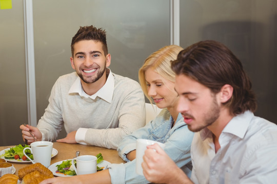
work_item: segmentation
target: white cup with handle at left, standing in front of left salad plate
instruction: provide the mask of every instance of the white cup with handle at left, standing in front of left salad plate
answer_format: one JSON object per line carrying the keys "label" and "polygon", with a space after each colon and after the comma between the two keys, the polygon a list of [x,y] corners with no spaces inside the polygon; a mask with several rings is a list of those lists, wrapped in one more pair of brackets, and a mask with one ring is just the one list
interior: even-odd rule
{"label": "white cup with handle at left, standing in front of left salad plate", "polygon": [[[23,153],[24,155],[31,160],[33,164],[41,163],[45,167],[50,166],[51,156],[52,156],[52,149],[53,143],[49,141],[37,141],[31,143],[31,148],[24,148]],[[32,160],[29,156],[25,154],[25,150],[29,149],[33,154],[34,160]]]}

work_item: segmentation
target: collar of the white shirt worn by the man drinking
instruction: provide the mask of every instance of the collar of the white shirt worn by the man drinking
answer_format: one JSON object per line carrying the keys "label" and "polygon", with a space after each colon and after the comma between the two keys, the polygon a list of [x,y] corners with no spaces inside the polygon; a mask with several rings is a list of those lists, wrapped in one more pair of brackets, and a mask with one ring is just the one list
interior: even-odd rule
{"label": "collar of the white shirt worn by the man drinking", "polygon": [[[231,133],[242,139],[253,117],[253,112],[247,110],[244,113],[233,117],[231,121],[224,127],[222,132]],[[205,139],[207,139],[207,137],[212,136],[212,132],[208,128],[204,128],[200,131],[200,136],[202,141],[204,141]]]}

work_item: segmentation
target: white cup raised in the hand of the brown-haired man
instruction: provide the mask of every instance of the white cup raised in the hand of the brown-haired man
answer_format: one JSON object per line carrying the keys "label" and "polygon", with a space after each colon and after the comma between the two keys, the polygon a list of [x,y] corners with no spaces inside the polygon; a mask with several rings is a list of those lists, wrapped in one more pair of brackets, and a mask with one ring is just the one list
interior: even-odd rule
{"label": "white cup raised in the hand of the brown-haired man", "polygon": [[143,169],[142,169],[142,163],[143,163],[143,155],[145,150],[147,149],[147,146],[153,145],[157,143],[162,149],[165,148],[165,144],[159,143],[152,140],[146,140],[146,139],[137,139],[136,140],[136,151],[135,151],[135,171],[137,174],[143,176]]}

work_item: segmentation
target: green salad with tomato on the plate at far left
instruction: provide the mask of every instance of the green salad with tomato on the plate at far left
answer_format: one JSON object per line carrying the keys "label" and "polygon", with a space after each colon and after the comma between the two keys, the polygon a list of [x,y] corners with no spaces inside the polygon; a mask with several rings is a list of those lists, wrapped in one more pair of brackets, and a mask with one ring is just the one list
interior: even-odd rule
{"label": "green salad with tomato on the plate at far left", "polygon": [[[24,154],[23,154],[23,149],[24,148],[29,148],[29,145],[16,145],[15,147],[12,147],[8,150],[5,150],[5,153],[0,155],[0,157],[6,158],[6,159],[23,159],[23,160],[29,160]],[[25,150],[25,154],[27,154],[31,159],[33,159],[33,154],[29,149]]]}

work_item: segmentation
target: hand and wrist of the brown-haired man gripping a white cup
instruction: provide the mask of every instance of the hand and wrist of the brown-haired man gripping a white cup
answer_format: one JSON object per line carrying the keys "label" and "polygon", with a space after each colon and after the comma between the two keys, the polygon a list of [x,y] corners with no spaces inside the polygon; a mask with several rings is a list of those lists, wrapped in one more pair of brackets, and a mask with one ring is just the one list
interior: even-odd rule
{"label": "hand and wrist of the brown-haired man gripping a white cup", "polygon": [[142,163],[143,174],[154,183],[192,183],[187,175],[158,145],[147,146]]}

